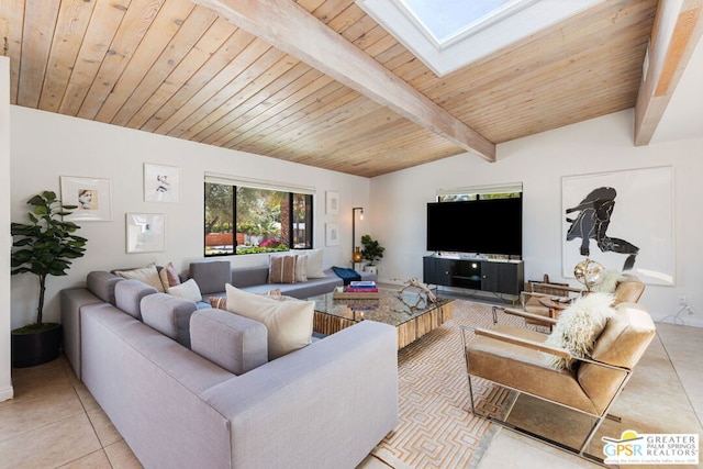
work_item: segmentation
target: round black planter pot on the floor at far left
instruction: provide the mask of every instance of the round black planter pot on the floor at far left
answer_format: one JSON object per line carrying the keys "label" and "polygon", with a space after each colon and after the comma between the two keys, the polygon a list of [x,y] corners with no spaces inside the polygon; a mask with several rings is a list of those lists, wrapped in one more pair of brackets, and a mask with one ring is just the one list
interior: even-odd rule
{"label": "round black planter pot on the floor at far left", "polygon": [[18,333],[12,331],[12,366],[26,368],[58,358],[62,348],[62,325],[44,324],[46,328]]}

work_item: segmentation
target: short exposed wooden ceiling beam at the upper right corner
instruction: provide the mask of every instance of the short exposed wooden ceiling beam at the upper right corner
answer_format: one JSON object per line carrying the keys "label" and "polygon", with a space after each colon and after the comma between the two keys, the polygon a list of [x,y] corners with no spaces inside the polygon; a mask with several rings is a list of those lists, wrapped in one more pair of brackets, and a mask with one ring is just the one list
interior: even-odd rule
{"label": "short exposed wooden ceiling beam at the upper right corner", "polygon": [[648,145],[703,34],[703,0],[660,0],[635,105],[635,145]]}

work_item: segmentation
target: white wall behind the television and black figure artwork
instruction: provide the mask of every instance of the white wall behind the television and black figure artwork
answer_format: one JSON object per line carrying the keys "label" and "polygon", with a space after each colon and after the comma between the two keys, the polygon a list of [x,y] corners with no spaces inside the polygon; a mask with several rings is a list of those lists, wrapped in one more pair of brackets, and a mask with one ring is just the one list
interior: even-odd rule
{"label": "white wall behind the television and black figure artwork", "polygon": [[[383,201],[382,216],[371,220],[373,235],[387,247],[381,279],[422,278],[425,205],[439,188],[523,182],[523,258],[526,279],[561,277],[561,177],[671,166],[674,172],[676,286],[648,286],[643,298],[652,316],[676,313],[685,295],[703,315],[703,215],[699,205],[703,178],[703,132],[698,138],[633,145],[633,111],[623,111],[498,146],[498,160],[460,155],[375,178],[371,200]],[[703,130],[702,130],[703,131]],[[465,224],[468,227],[464,227]],[[456,230],[477,228],[457,221]],[[484,226],[486,230],[500,225]],[[606,266],[618,269],[621,266]]]}

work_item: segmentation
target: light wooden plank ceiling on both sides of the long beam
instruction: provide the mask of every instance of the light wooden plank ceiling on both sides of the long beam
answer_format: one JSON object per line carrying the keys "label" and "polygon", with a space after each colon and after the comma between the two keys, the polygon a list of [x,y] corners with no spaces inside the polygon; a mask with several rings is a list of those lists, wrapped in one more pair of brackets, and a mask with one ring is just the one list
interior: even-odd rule
{"label": "light wooden plank ceiling on both sides of the long beam", "polygon": [[[2,0],[11,102],[362,177],[466,152],[198,3]],[[354,0],[297,3],[484,138],[484,154],[633,108],[657,11],[657,0],[606,1],[437,77]]]}

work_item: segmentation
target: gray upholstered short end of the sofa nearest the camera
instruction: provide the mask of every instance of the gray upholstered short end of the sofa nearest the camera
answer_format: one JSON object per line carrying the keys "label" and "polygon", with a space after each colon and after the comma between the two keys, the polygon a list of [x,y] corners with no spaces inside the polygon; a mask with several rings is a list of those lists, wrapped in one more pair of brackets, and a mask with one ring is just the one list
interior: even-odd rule
{"label": "gray upholstered short end of the sofa nearest the camera", "polygon": [[395,328],[361,322],[203,399],[231,422],[232,467],[356,467],[398,421]]}

